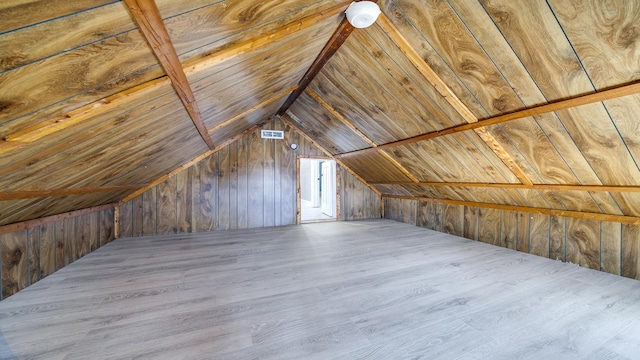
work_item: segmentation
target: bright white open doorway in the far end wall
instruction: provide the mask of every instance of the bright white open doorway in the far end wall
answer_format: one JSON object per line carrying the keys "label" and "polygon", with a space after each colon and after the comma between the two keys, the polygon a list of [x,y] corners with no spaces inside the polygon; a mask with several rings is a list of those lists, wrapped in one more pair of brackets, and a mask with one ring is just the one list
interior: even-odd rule
{"label": "bright white open doorway in the far end wall", "polygon": [[336,162],[300,158],[298,165],[299,222],[335,221],[337,218]]}

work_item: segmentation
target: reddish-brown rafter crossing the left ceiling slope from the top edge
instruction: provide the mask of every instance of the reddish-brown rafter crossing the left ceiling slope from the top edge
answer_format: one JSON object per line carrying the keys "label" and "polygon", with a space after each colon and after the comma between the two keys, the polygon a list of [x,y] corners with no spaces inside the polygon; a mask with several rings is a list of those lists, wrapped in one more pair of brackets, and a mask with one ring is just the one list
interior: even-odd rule
{"label": "reddish-brown rafter crossing the left ceiling slope from the top edge", "polygon": [[154,0],[124,0],[131,15],[138,23],[138,28],[151,45],[158,61],[167,73],[176,93],[182,100],[193,124],[198,129],[202,140],[210,149],[215,148],[213,140],[207,131],[207,127],[198,108],[198,103],[191,90],[191,85],[182,69],[178,54],[173,47],[167,28],[164,26],[160,11]]}

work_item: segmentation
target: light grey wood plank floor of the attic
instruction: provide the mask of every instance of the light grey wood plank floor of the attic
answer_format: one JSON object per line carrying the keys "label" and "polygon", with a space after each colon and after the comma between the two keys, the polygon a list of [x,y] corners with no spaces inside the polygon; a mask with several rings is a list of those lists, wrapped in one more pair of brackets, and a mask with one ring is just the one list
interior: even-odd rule
{"label": "light grey wood plank floor of the attic", "polygon": [[120,239],[0,302],[0,328],[19,359],[637,359],[640,282],[317,223]]}

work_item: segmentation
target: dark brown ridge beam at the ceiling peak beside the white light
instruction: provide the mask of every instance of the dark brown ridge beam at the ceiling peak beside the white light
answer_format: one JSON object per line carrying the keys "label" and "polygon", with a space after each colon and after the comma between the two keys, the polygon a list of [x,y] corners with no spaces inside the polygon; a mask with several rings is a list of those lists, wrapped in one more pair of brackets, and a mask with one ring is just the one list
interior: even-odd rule
{"label": "dark brown ridge beam at the ceiling peak beside the white light", "polygon": [[[373,0],[373,2],[377,2],[377,0]],[[324,67],[324,65],[331,59],[331,57],[338,51],[338,49],[344,44],[349,35],[353,32],[355,28],[353,25],[349,23],[347,17],[345,16],[338,25],[338,28],[333,32],[329,41],[325,44],[324,48],[320,51],[316,59],[313,61],[307,72],[302,76],[300,82],[298,83],[298,88],[289,95],[287,100],[282,104],[277,114],[282,116],[287,110],[293,105],[298,96],[302,94],[303,91],[306,90],[307,86],[311,83],[311,81],[318,75],[320,70]]]}

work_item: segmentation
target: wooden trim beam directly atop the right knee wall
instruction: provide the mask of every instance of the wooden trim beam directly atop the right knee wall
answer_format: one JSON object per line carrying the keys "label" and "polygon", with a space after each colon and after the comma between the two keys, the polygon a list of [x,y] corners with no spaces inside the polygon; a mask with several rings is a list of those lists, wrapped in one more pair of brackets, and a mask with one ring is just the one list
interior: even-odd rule
{"label": "wooden trim beam directly atop the right knee wall", "polygon": [[551,216],[564,216],[564,217],[570,217],[570,218],[576,218],[576,219],[590,219],[590,220],[598,220],[598,221],[610,221],[610,222],[616,222],[616,223],[622,223],[622,224],[640,225],[640,217],[634,217],[634,216],[609,215],[609,214],[599,214],[599,213],[588,213],[588,212],[582,212],[582,211],[532,208],[532,207],[525,207],[525,206],[489,204],[489,203],[479,203],[479,202],[472,202],[472,201],[432,199],[432,198],[426,198],[426,197],[412,197],[412,196],[387,195],[387,194],[384,194],[383,196],[388,198],[395,198],[395,199],[419,200],[419,201],[435,202],[435,203],[450,204],[450,205],[473,206],[473,207],[488,208],[488,209],[519,211],[519,212],[544,214],[544,215],[551,215]]}

